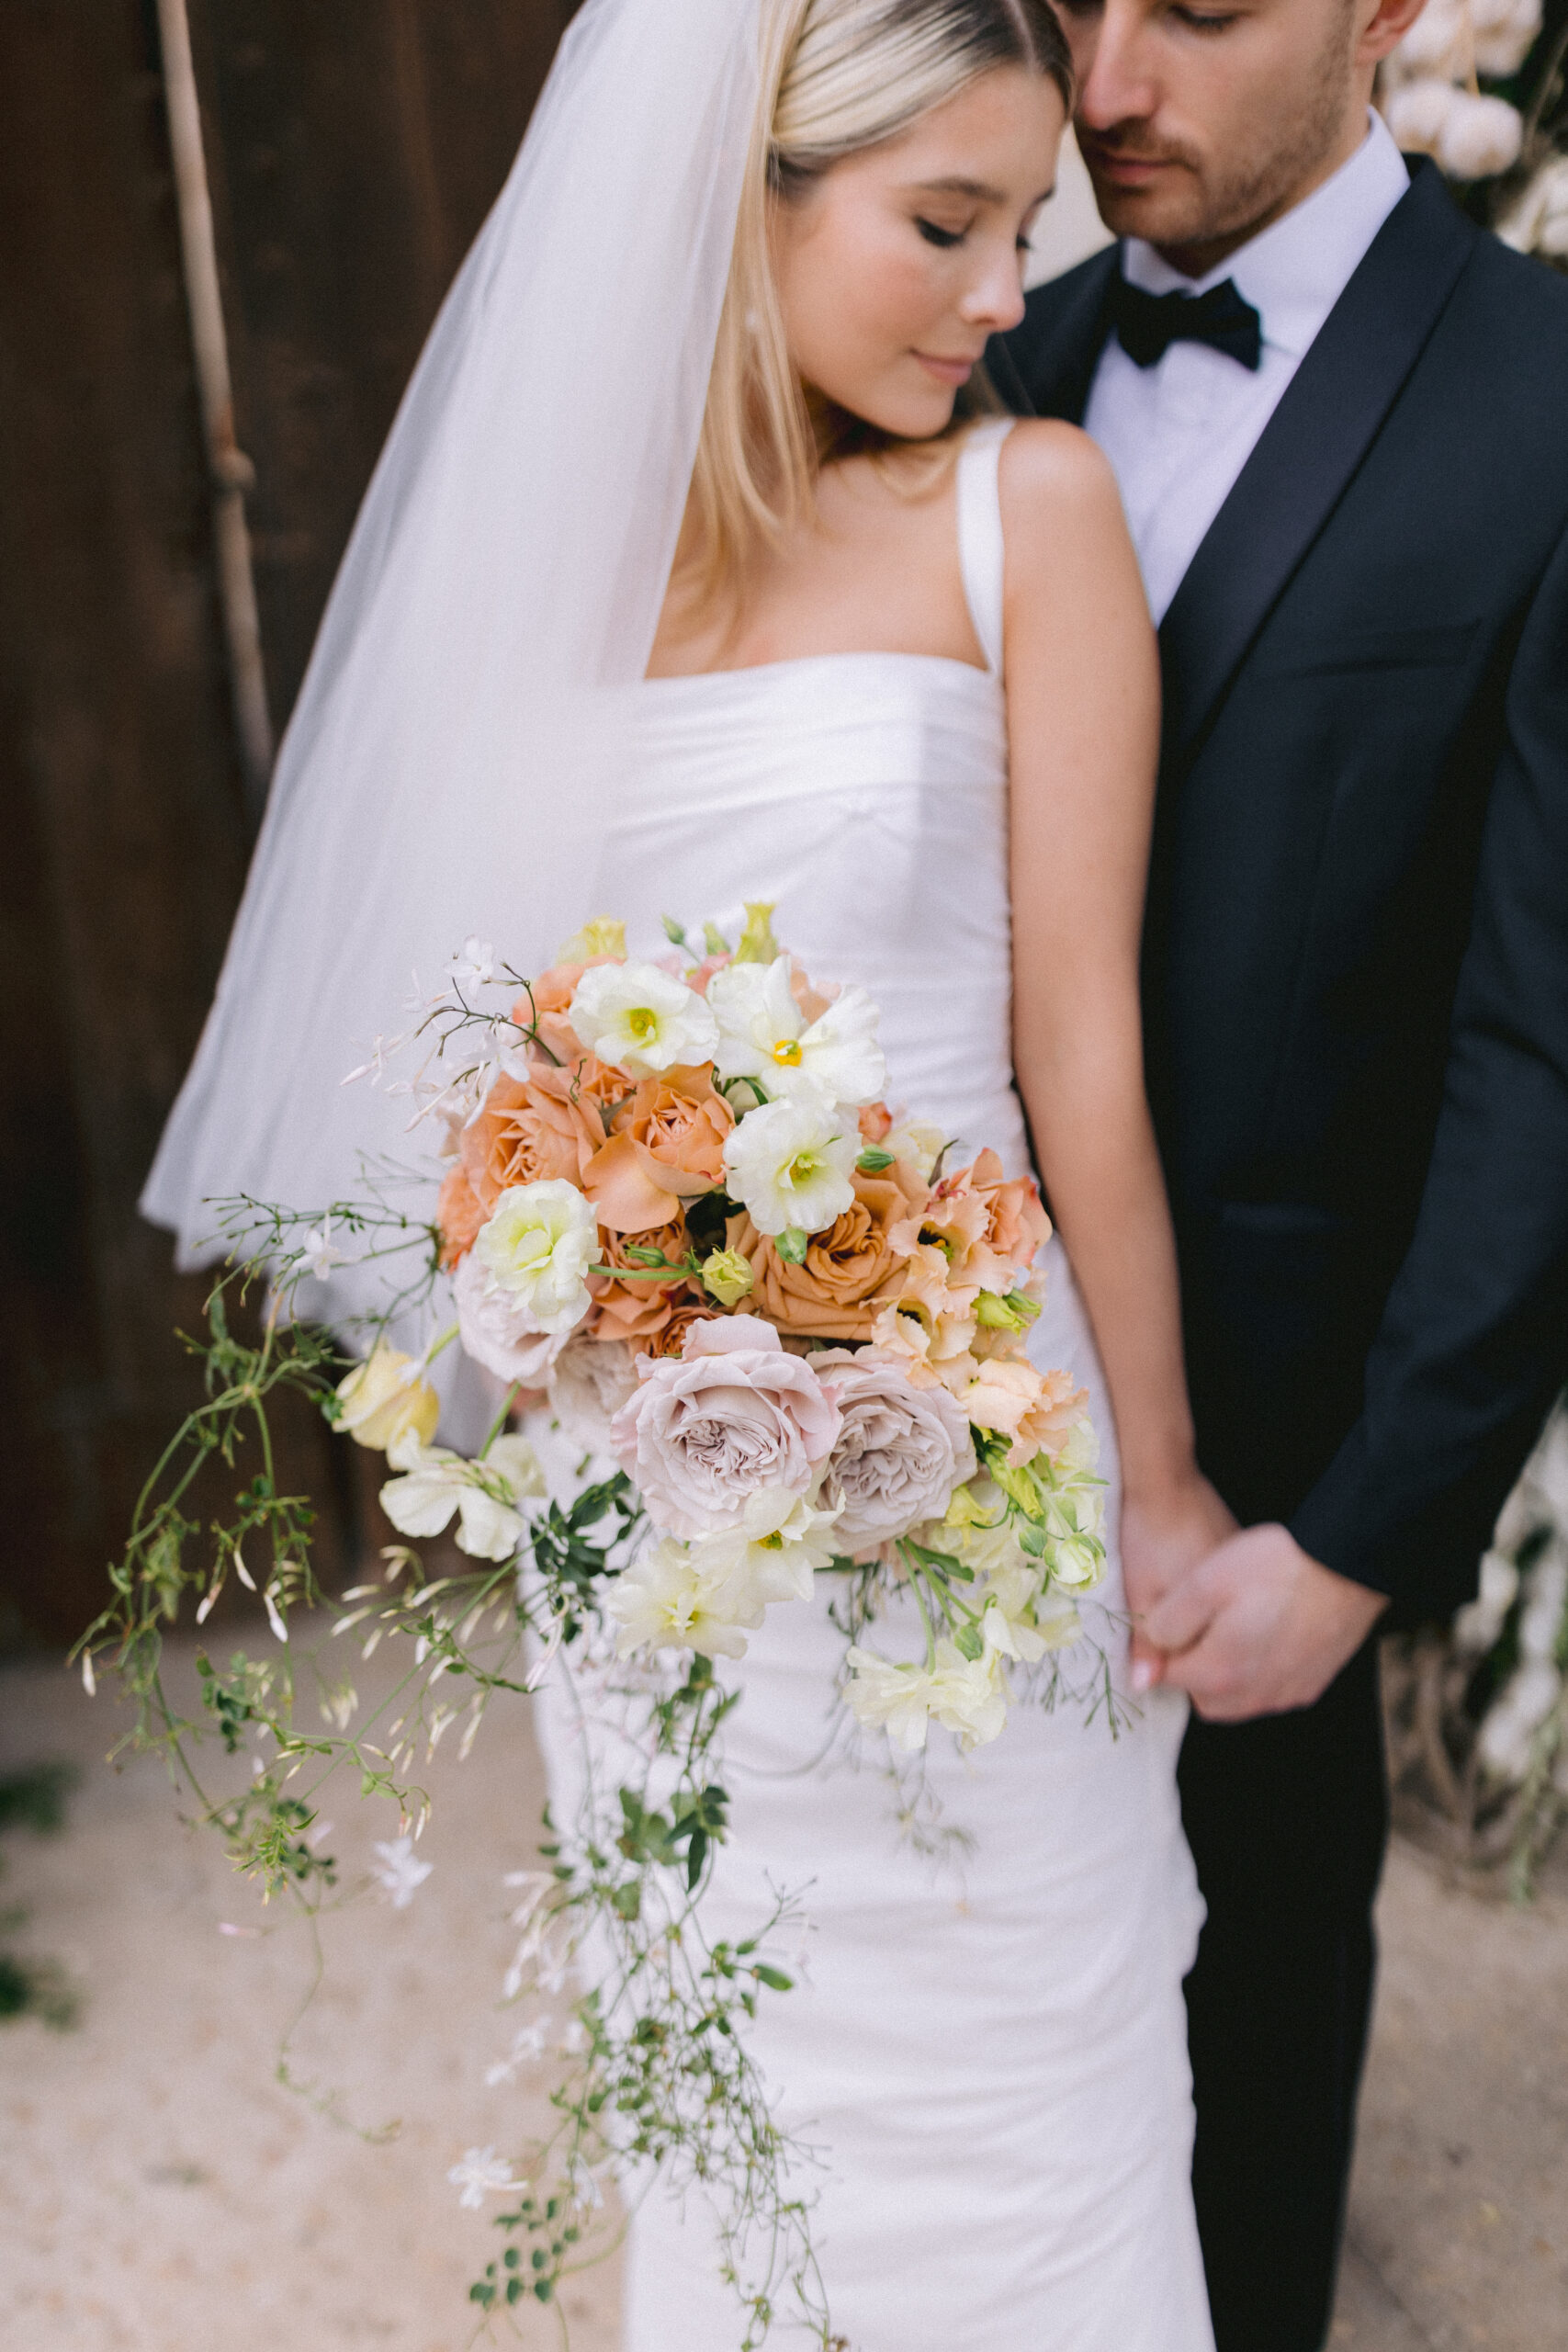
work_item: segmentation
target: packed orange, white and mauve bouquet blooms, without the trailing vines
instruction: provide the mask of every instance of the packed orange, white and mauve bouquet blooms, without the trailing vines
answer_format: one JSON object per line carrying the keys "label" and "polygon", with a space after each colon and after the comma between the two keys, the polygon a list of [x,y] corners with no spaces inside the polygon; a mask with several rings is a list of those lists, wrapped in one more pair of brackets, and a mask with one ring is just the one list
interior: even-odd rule
{"label": "packed orange, white and mauve bouquet blooms, without the trailing vines", "polygon": [[[632,1479],[656,1541],[602,1595],[621,1656],[741,1658],[820,1569],[891,1576],[919,1592],[929,1656],[856,1644],[849,1705],[903,1748],[931,1717],[976,1745],[1001,1731],[1009,1663],[1077,1637],[1072,1595],[1105,1557],[1084,1392],[1023,1350],[1048,1223],[994,1152],[945,1171],[938,1131],[893,1122],[877,1007],[820,995],[769,915],[736,955],[715,938],[693,960],[677,931],[661,962],[599,922],[505,1018],[437,1007],[437,1068],[475,1028],[487,1044],[423,1080],[454,1143],[456,1331]],[[484,969],[470,943],[465,974]],[[346,1418],[388,1371],[407,1367],[350,1376]],[[388,1461],[409,1536],[484,1491],[416,1425]],[[473,1512],[458,1545],[494,1543]]]}

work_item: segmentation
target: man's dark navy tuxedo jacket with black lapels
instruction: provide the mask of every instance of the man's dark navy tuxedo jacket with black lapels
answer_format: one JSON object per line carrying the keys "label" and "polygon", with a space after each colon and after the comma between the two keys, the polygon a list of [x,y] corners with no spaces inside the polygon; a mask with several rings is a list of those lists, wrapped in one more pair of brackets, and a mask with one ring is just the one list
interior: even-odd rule
{"label": "man's dark navy tuxedo jacket with black lapels", "polygon": [[[1114,273],[1030,294],[1009,405],[1081,419]],[[1429,165],[1161,659],[1145,1021],[1199,1454],[1446,1611],[1568,1374],[1568,282]]]}

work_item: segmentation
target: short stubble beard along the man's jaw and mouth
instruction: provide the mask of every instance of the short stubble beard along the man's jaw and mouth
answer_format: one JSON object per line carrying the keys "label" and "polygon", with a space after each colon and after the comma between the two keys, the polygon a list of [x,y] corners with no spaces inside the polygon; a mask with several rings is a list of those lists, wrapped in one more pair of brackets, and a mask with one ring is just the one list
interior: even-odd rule
{"label": "short stubble beard along the man's jaw and mouth", "polygon": [[[1354,68],[1349,42],[1335,24],[1312,75],[1267,92],[1253,113],[1237,118],[1229,136],[1173,139],[1147,120],[1110,129],[1077,125],[1100,219],[1119,238],[1145,238],[1175,268],[1197,278],[1269,221],[1288,212],[1321,174],[1352,113]],[[1143,186],[1121,186],[1119,160],[1157,162]]]}

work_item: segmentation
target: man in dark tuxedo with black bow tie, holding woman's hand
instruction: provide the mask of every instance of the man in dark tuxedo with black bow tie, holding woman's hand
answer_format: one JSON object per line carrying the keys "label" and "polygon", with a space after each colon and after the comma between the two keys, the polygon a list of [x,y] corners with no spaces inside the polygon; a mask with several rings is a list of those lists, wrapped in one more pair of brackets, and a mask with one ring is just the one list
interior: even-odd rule
{"label": "man in dark tuxedo with black bow tie, holding woman's hand", "polygon": [[1063,0],[1121,245],[987,355],[1105,447],[1161,623],[1150,1096],[1241,1531],[1124,1541],[1135,1677],[1197,1710],[1220,2352],[1328,2328],[1373,1628],[1472,1592],[1568,1371],[1568,285],[1368,122],[1418,12]]}

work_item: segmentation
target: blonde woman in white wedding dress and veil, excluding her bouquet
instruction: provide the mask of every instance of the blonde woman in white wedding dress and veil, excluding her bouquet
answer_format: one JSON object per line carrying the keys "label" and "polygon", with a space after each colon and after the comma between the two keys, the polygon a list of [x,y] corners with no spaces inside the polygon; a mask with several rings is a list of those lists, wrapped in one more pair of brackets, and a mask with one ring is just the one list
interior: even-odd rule
{"label": "blonde woman in white wedding dress and veil, excluding her bouquet", "polygon": [[[1067,96],[1046,0],[588,0],[334,590],[148,1183],[188,1256],[205,1195],[331,1197],[395,1143],[336,1080],[411,962],[771,898],[809,971],[877,995],[914,1117],[1009,1174],[1032,1138],[1060,1235],[1032,1352],[1091,1390],[1112,1531],[1225,1531],[1143,1101],[1154,637],[1110,470],[987,414],[980,372]],[[1124,1679],[1114,1543],[1105,1599]],[[1208,2352],[1180,1705],[1119,1738],[1018,1708],[969,1762],[938,1736],[971,1844],[931,1867],[886,1783],[818,1755],[839,1651],[825,1602],[755,1642],[712,1896],[806,1884],[806,1983],[755,2049],[823,2154],[835,2328]],[[541,1736],[567,1785],[559,1691]],[[708,2220],[654,2190],[630,2352],[738,2333]]]}

